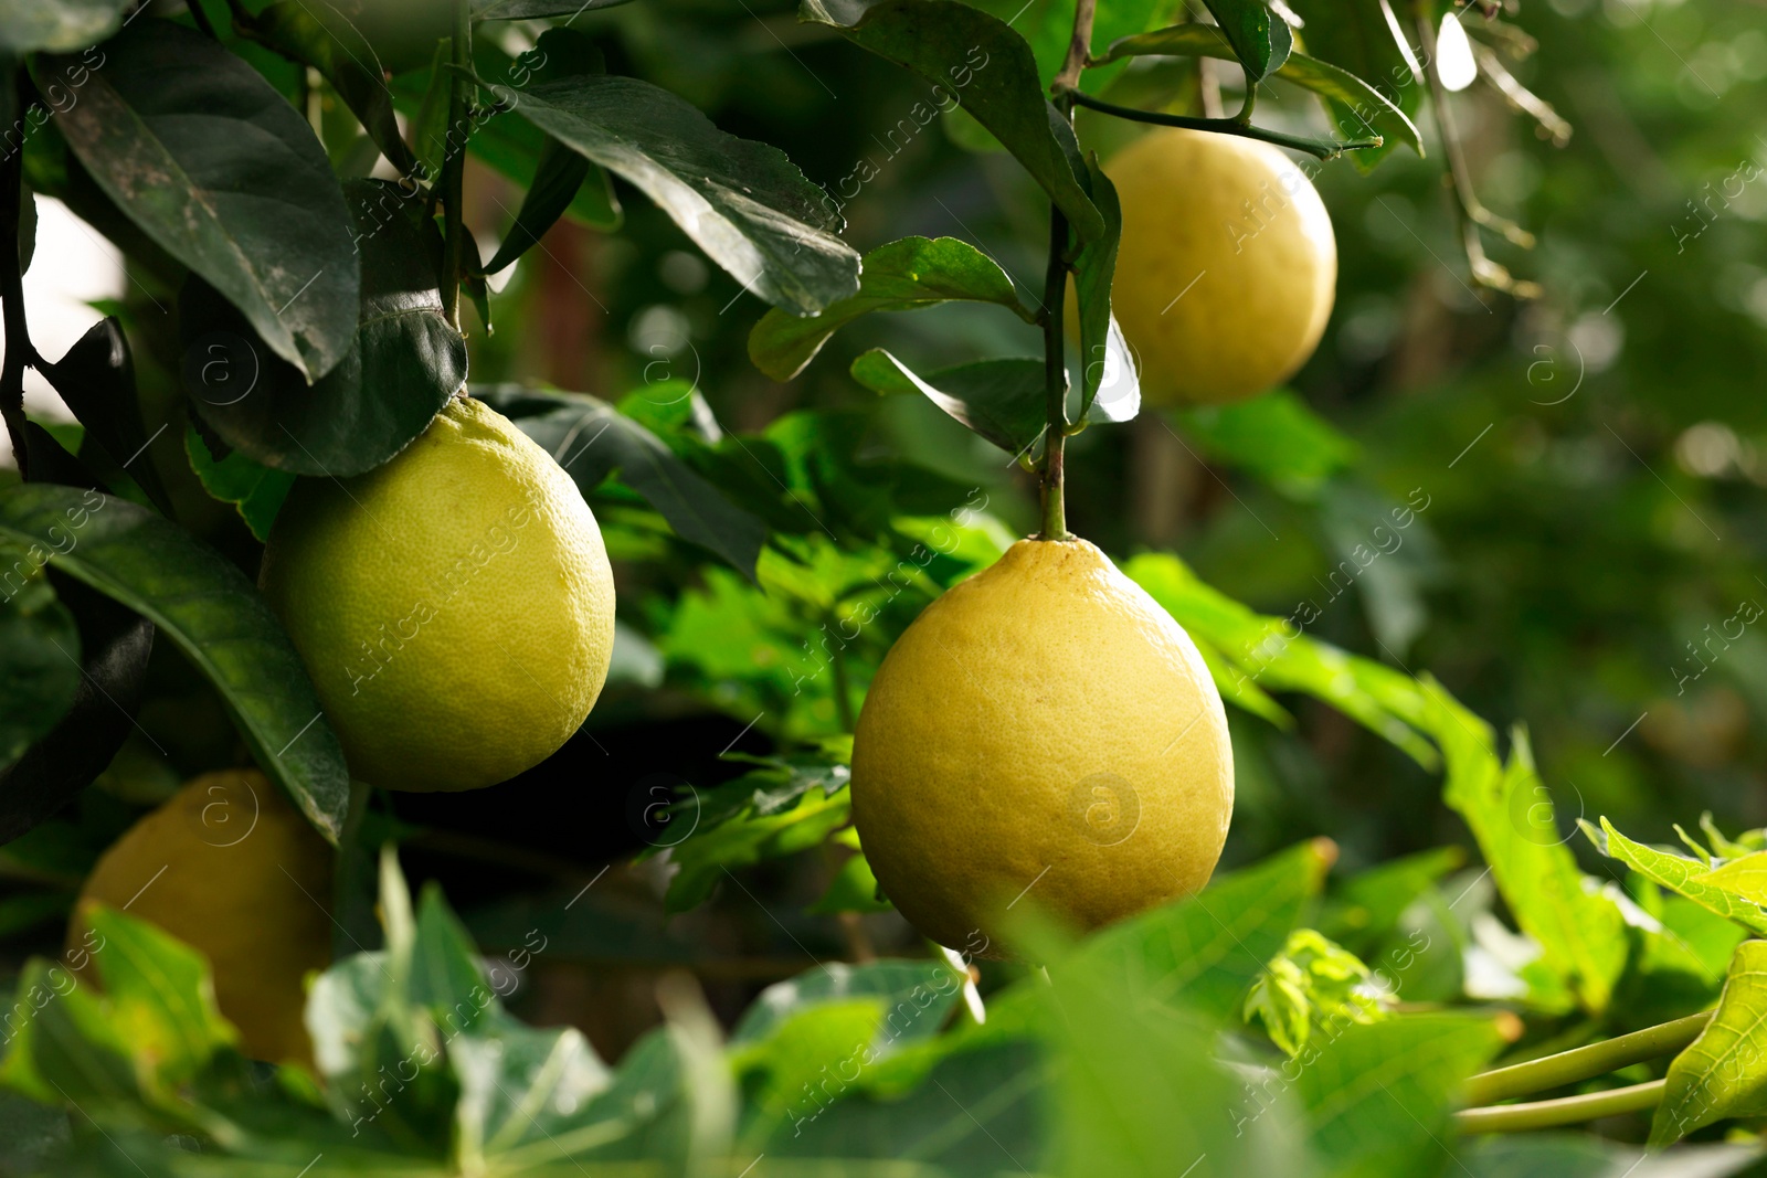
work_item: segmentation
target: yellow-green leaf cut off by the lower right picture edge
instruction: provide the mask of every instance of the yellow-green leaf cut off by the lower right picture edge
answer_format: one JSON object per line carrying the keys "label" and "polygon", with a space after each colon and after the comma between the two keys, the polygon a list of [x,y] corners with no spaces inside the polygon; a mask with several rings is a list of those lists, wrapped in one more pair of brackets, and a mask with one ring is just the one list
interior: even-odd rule
{"label": "yellow-green leaf cut off by the lower right picture edge", "polygon": [[1742,941],[1725,993],[1700,1037],[1668,1065],[1663,1102],[1650,1118],[1661,1150],[1702,1125],[1767,1113],[1767,941]]}

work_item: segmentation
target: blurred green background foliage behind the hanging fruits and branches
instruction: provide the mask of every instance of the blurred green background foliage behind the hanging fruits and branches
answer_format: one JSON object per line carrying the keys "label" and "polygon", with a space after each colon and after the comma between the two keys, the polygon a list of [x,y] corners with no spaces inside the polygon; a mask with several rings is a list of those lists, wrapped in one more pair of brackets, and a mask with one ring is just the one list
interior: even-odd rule
{"label": "blurred green background foliage behind the hanging fruits and branches", "polygon": [[[1014,26],[1035,28],[1051,9],[1032,0]],[[1497,728],[1525,722],[1566,834],[1603,814],[1650,841],[1700,811],[1730,830],[1767,825],[1767,634],[1755,625],[1767,608],[1756,576],[1767,546],[1756,376],[1767,360],[1767,11],[1532,0],[1502,19],[1539,41],[1516,74],[1574,134],[1553,143],[1484,85],[1452,97],[1454,117],[1483,200],[1539,237],[1534,251],[1495,237],[1488,247],[1543,297],[1472,286],[1430,120],[1419,120],[1428,159],[1394,152],[1371,175],[1325,164],[1315,182],[1341,274],[1315,359],[1292,390],[1249,406],[1087,429],[1069,447],[1069,523],[1119,560],[1177,553],[1262,613],[1309,604],[1309,636],[1433,673]],[[924,83],[799,25],[793,5],[647,0],[587,12],[576,28],[615,72],[783,147],[841,203],[857,249],[958,237],[1021,288],[1041,281],[1048,205],[1034,184],[1011,159],[959,147],[974,129],[919,127],[910,111],[928,99]],[[509,35],[516,53],[530,34],[511,25]],[[295,71],[242,53],[295,94]],[[1219,72],[1232,88],[1232,69]],[[1166,60],[1110,85],[1182,102],[1196,79]],[[422,83],[394,88],[421,95]],[[1323,125],[1311,99],[1274,90],[1262,118]],[[315,102],[323,115],[334,99]],[[1081,111],[1080,134],[1108,152],[1126,132]],[[475,157],[468,170],[486,256],[527,180],[498,162]],[[689,463],[746,464],[776,530],[758,586],[675,539],[631,491],[603,486],[592,503],[617,560],[620,643],[583,733],[505,786],[378,798],[371,814],[376,830],[405,837],[413,880],[445,883],[486,952],[548,929],[548,952],[512,1001],[541,1023],[583,1026],[608,1056],[654,1021],[657,970],[693,968],[733,1016],[806,955],[917,952],[892,913],[806,911],[841,878],[839,844],[724,872],[709,904],[670,922],[668,857],[627,860],[671,846],[680,827],[668,823],[693,818],[659,811],[657,798],[689,784],[710,805],[714,788],[755,770],[721,754],[769,756],[850,731],[878,661],[926,600],[1035,526],[1035,489],[1007,456],[924,399],[868,392],[848,362],[873,346],[921,371],[1039,350],[1035,330],[998,307],[951,304],[869,316],[800,378],[770,381],[746,353],[763,304],[648,201],[615,189],[618,233],[564,221],[498,276],[495,332],[470,332],[472,380],[622,401],[641,420],[673,422],[670,443]],[[173,424],[152,456],[180,521],[254,572],[251,532],[184,457],[171,302],[163,277],[131,261],[104,311],[127,325],[148,429]],[[1352,551],[1405,507],[1415,517],[1401,542],[1345,576]],[[912,576],[887,579],[905,560]],[[196,772],[242,763],[221,703],[161,646],[138,735],[99,786],[0,848],[0,933],[14,961],[58,947],[80,878],[141,807]],[[1470,846],[1437,774],[1325,705],[1283,701],[1297,719],[1286,729],[1230,710],[1239,805],[1225,865],[1316,834],[1343,848],[1339,871]],[[1576,846],[1601,874],[1604,860]],[[1405,902],[1428,892],[1458,867],[1438,858],[1407,860],[1415,887],[1389,892]],[[1468,906],[1451,917],[1431,902],[1407,927],[1461,924],[1428,961],[1389,961],[1407,973],[1407,996],[1461,984],[1463,963],[1440,947],[1472,936]],[[1369,961],[1391,957],[1357,941],[1354,910],[1343,901],[1325,931]]]}

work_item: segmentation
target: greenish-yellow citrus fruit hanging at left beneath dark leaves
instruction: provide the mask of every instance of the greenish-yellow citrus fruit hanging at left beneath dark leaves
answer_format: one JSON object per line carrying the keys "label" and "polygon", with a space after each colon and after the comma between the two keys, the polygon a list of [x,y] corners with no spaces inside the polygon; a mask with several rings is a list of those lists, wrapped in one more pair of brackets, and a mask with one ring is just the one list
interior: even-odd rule
{"label": "greenish-yellow citrus fruit hanging at left beneath dark leaves", "polygon": [[260,588],[300,652],[350,772],[477,789],[532,768],[594,706],[613,572],[571,477],[482,401],[355,479],[302,479]]}

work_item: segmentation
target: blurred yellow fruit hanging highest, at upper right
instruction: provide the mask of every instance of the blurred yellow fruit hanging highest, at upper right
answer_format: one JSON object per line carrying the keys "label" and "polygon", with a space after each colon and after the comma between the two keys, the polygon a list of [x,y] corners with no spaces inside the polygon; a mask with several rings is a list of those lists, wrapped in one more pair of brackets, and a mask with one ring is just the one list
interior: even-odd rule
{"label": "blurred yellow fruit hanging highest, at upper right", "polygon": [[1313,184],[1269,143],[1177,127],[1104,166],[1122,201],[1111,307],[1156,406],[1226,404],[1320,343],[1338,244]]}

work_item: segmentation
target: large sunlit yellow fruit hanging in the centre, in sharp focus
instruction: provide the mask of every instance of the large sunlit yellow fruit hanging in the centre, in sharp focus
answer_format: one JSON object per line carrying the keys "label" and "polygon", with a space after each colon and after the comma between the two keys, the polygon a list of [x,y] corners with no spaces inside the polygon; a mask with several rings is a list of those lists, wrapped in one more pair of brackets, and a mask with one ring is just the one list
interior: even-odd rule
{"label": "large sunlit yellow fruit hanging in the centre, in sharp focus", "polygon": [[1172,615],[1085,540],[1020,540],[884,659],[852,791],[901,915],[998,955],[1020,895],[1094,929],[1202,888],[1233,811],[1233,752]]}

